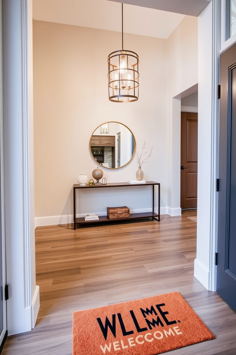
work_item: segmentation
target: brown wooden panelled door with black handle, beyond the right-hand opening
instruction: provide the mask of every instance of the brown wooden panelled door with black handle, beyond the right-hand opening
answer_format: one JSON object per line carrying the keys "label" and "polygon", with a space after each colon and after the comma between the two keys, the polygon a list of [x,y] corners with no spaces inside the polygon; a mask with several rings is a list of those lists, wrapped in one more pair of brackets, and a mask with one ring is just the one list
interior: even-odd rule
{"label": "brown wooden panelled door with black handle, beyond the right-hand opening", "polygon": [[197,208],[197,113],[181,112],[180,207]]}

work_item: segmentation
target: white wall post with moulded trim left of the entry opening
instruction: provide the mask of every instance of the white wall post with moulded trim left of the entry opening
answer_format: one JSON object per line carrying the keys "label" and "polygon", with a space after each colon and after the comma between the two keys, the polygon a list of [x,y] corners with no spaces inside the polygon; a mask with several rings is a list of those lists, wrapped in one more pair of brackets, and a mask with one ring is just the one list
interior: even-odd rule
{"label": "white wall post with moulded trim left of the entry opening", "polygon": [[[3,115],[8,334],[30,331],[39,309],[35,285],[32,176],[32,3],[2,1]],[[28,13],[29,10],[29,13]],[[29,39],[29,43],[28,43]],[[33,213],[33,214],[32,214]],[[33,229],[32,229],[33,226]]]}

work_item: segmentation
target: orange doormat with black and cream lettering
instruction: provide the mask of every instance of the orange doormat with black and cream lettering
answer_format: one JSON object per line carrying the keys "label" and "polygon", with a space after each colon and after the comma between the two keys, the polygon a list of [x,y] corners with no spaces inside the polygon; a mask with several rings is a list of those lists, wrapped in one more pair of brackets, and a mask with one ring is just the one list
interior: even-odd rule
{"label": "orange doormat with black and cream lettering", "polygon": [[156,355],[210,339],[178,292],[73,313],[73,355]]}

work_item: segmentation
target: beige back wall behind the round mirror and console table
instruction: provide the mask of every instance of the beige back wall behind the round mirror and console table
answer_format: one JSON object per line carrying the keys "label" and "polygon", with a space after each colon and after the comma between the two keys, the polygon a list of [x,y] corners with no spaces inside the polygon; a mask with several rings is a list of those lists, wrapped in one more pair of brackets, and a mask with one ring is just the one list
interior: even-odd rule
{"label": "beige back wall behind the round mirror and console table", "polygon": [[[148,164],[142,166],[144,179],[161,182],[161,204],[167,206],[166,40],[124,34],[124,47],[140,59],[139,99],[134,103],[108,100],[107,57],[120,47],[118,32],[33,21],[36,218],[64,215],[70,222],[72,186],[80,173],[92,178],[96,168],[90,136],[98,125],[113,120],[131,129],[138,152],[144,141],[148,151],[153,146]],[[124,168],[103,171],[107,182],[121,182],[135,179],[137,169],[134,158]],[[129,203],[131,209],[151,208],[147,193],[139,198],[133,192],[127,201],[127,193],[121,192],[118,202]],[[82,194],[79,212],[102,213],[112,202],[118,203],[105,193],[97,200]]]}

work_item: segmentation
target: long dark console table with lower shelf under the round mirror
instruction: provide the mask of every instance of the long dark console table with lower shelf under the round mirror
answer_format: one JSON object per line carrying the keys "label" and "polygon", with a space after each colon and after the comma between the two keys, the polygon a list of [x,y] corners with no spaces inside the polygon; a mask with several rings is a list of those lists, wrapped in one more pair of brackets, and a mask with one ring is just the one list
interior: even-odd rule
{"label": "long dark console table with lower shelf under the round mirror", "polygon": [[[158,213],[154,212],[154,186],[158,186]],[[152,212],[143,212],[143,213],[130,213],[128,218],[116,218],[116,219],[109,219],[107,216],[99,216],[99,220],[91,220],[91,221],[86,221],[84,217],[82,218],[75,218],[75,213],[76,213],[76,198],[75,198],[75,191],[77,189],[109,189],[111,187],[134,187],[134,186],[139,186],[141,188],[145,186],[152,186]],[[114,182],[110,183],[107,185],[79,185],[75,184],[73,185],[73,190],[74,190],[74,229],[76,229],[76,224],[80,223],[99,223],[99,222],[110,222],[110,221],[121,221],[121,220],[127,220],[127,219],[136,219],[136,218],[148,218],[152,217],[158,222],[160,222],[160,182],[154,182],[154,181],[146,181],[145,184],[128,184],[128,182]]]}

